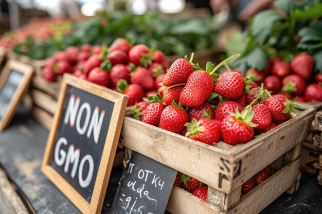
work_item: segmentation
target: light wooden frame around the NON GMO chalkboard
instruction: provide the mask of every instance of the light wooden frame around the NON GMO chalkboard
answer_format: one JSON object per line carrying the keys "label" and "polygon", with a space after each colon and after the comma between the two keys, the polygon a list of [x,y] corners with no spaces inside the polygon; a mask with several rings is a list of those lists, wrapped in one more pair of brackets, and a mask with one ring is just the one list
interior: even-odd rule
{"label": "light wooden frame around the NON GMO chalkboard", "polygon": [[[114,108],[112,111],[111,122],[107,131],[105,144],[103,147],[101,160],[94,184],[92,198],[88,202],[63,176],[50,164],[53,151],[55,150],[56,138],[60,128],[60,122],[63,120],[64,105],[67,99],[68,88],[74,87],[82,91],[91,93],[99,98],[112,101]],[[55,113],[53,123],[49,132],[47,145],[44,153],[41,170],[47,178],[55,184],[65,196],[85,214],[100,213],[108,187],[110,174],[114,162],[116,148],[126,112],[128,97],[113,90],[104,88],[94,83],[81,80],[71,74],[64,74],[61,84],[57,111]]]}

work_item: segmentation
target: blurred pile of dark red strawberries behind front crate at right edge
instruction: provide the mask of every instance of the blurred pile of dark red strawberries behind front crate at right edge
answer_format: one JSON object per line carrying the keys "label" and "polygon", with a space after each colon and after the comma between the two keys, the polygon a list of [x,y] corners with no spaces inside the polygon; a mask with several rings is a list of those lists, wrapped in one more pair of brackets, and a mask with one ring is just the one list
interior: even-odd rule
{"label": "blurred pile of dark red strawberries behind front crate at right edge", "polygon": [[322,102],[322,73],[313,73],[314,60],[307,53],[296,55],[291,63],[271,59],[263,72],[254,68],[246,71],[257,84],[264,83],[272,94],[283,94],[292,100]]}

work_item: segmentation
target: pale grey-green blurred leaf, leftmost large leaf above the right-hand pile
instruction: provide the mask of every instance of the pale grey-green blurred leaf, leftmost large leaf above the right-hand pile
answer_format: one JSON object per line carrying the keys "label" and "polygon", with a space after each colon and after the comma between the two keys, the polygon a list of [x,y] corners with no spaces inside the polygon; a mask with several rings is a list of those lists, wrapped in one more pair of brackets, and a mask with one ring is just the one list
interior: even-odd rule
{"label": "pale grey-green blurred leaf, leftmost large leaf above the right-hand pile", "polygon": [[254,23],[251,28],[252,34],[259,43],[263,44],[272,32],[273,24],[282,19],[283,17],[278,12],[264,10],[254,17]]}

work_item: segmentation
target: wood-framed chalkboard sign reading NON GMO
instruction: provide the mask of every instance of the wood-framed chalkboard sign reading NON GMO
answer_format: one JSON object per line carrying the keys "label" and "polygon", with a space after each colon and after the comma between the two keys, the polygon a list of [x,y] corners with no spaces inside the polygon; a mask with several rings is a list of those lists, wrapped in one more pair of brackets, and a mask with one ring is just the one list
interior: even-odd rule
{"label": "wood-framed chalkboard sign reading NON GMO", "polygon": [[128,98],[65,74],[42,171],[83,213],[99,213]]}

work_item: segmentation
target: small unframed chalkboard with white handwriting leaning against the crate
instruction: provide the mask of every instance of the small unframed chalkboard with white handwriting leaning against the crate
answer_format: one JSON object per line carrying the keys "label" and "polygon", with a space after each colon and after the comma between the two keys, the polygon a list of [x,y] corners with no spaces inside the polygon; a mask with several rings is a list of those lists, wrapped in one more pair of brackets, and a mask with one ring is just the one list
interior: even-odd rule
{"label": "small unframed chalkboard with white handwriting leaning against the crate", "polygon": [[163,214],[177,171],[137,152],[124,169],[111,213]]}

